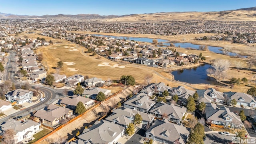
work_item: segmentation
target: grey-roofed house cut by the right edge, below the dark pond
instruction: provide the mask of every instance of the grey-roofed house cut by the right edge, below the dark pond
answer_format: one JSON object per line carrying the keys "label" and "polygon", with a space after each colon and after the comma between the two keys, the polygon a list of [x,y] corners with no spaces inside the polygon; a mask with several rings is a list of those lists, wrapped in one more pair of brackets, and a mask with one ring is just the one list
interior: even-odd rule
{"label": "grey-roofed house cut by the right edge, below the dark pond", "polygon": [[235,99],[238,105],[256,107],[256,101],[249,94],[243,92],[223,92],[223,94],[227,104],[230,104],[231,100]]}

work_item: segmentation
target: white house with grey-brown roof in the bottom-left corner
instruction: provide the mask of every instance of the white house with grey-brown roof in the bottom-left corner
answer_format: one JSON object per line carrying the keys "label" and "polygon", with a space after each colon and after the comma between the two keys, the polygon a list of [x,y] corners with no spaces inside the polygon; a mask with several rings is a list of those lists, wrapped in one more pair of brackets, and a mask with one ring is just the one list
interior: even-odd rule
{"label": "white house with grey-brown roof in the bottom-left corner", "polygon": [[1,131],[4,133],[8,129],[12,129],[15,132],[15,143],[21,142],[26,138],[31,138],[36,132],[38,132],[40,123],[32,120],[24,120],[22,122],[9,119],[1,125]]}

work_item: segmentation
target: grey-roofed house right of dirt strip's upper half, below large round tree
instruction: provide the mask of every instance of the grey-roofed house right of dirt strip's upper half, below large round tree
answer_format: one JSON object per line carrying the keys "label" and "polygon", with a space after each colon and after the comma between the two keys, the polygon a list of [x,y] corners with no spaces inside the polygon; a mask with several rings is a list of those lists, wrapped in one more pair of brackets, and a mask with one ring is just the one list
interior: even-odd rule
{"label": "grey-roofed house right of dirt strip's upper half, below large round tree", "polygon": [[155,101],[149,99],[147,94],[140,92],[124,102],[124,107],[148,113],[155,103]]}

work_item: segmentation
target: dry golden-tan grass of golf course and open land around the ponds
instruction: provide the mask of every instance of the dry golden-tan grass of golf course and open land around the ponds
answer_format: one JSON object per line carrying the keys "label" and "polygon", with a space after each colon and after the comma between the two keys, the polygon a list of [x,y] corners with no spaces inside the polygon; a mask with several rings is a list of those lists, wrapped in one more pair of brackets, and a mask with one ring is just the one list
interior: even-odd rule
{"label": "dry golden-tan grass of golf course and open land around the ponds", "polygon": [[[84,33],[84,32],[81,32],[81,33]],[[95,33],[95,34],[99,34],[99,33]],[[29,38],[43,37],[37,34],[33,34],[33,35],[26,34],[26,35]],[[111,34],[111,35],[114,35],[114,34]],[[119,36],[162,38],[162,39],[171,40],[168,36],[166,37],[154,36],[154,35],[134,36],[134,35],[127,35],[127,34],[122,34]],[[186,38],[188,39],[193,37],[194,35],[190,37],[186,35]],[[48,38],[48,37],[44,37],[44,38]],[[48,40],[52,40],[54,42],[58,41],[58,39],[53,39],[53,38],[48,38]],[[182,37],[180,36],[178,39],[173,39],[173,40],[179,41],[179,40],[182,40]],[[237,44],[236,46],[239,47],[240,45]],[[247,68],[245,58],[244,59],[232,58],[230,56],[215,54],[213,52],[188,50],[184,48],[176,48],[176,50],[178,52],[184,52],[186,54],[199,54],[200,52],[202,52],[203,56],[206,56],[206,62],[210,62],[210,60],[214,60],[216,58],[228,59],[232,64],[231,67],[234,67],[235,61],[242,61],[245,64],[242,68]],[[147,66],[142,66],[137,64],[120,64],[118,62],[113,62],[101,56],[100,56],[100,59],[98,58],[99,56],[91,56],[90,54],[86,53],[86,51],[87,49],[84,48],[83,46],[79,46],[75,43],[62,40],[61,44],[54,43],[53,45],[39,47],[36,50],[36,53],[43,53],[44,59],[42,61],[42,64],[46,69],[48,69],[48,74],[57,73],[57,72],[59,72],[59,74],[66,74],[67,76],[71,76],[73,74],[82,74],[84,76],[89,76],[89,77],[99,77],[99,78],[102,78],[103,80],[107,80],[108,78],[112,80],[119,80],[122,75],[132,75],[134,76],[138,84],[144,82],[144,77],[147,74],[151,74],[153,76],[151,82],[164,82],[165,84],[169,84],[171,87],[176,87],[180,85],[185,86],[188,89],[205,89],[207,87],[212,87],[212,86],[207,86],[205,84],[185,84],[183,82],[173,81],[172,75],[170,75],[170,71],[172,70],[172,68],[164,70],[161,68],[152,68],[152,67],[147,67]],[[56,69],[56,67],[57,67],[57,62],[60,60],[64,62],[64,67],[61,70],[58,70]],[[104,63],[108,63],[108,65],[110,66],[98,66],[98,65],[104,65]],[[119,68],[119,67],[113,68],[113,66],[117,64],[118,66],[123,66],[124,68]],[[186,66],[182,68],[186,68]],[[228,77],[225,80],[228,81],[232,77],[238,78],[238,76],[241,78],[247,77],[248,80],[255,80],[254,74],[252,71],[240,70],[240,72],[238,72],[235,69],[228,70]],[[248,87],[244,85],[245,84],[242,84],[240,86],[235,86],[233,89],[217,88],[217,87],[216,89],[220,91],[246,92],[248,90]],[[251,85],[254,85],[254,83],[251,83]]]}

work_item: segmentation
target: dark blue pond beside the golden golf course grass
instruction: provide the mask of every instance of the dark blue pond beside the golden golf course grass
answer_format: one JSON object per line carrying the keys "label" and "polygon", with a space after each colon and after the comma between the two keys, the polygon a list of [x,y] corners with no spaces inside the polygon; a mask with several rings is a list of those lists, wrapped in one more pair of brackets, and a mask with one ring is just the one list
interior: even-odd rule
{"label": "dark blue pond beside the golden golf course grass", "polygon": [[208,68],[211,68],[211,65],[204,64],[194,68],[176,70],[171,73],[174,75],[174,80],[181,82],[187,82],[190,84],[211,84],[223,86],[222,84],[216,82],[214,78],[206,75],[206,70]]}

